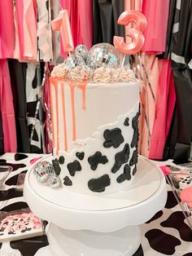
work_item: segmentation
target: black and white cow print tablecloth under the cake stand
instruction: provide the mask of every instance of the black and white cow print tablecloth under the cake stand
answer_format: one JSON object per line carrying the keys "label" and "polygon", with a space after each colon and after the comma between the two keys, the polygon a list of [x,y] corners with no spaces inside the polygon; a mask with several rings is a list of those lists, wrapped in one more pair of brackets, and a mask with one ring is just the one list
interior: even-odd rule
{"label": "black and white cow print tablecloth under the cake stand", "polygon": [[[32,159],[41,156],[6,153],[0,157],[0,166],[13,167],[11,174],[0,187],[0,210],[8,212],[28,207],[22,192],[22,179],[18,182],[18,178],[22,177],[20,174],[27,172]],[[155,214],[150,221],[141,225],[141,228],[142,245],[134,256],[192,256],[192,232],[170,189],[164,210]],[[21,253],[24,256],[33,256],[38,249],[46,245],[48,245],[46,235],[22,241],[12,241],[8,244],[12,254],[8,255],[17,255],[15,253],[18,252],[18,255]],[[0,256],[5,256],[5,252],[8,252],[3,248],[5,246],[0,244]]]}

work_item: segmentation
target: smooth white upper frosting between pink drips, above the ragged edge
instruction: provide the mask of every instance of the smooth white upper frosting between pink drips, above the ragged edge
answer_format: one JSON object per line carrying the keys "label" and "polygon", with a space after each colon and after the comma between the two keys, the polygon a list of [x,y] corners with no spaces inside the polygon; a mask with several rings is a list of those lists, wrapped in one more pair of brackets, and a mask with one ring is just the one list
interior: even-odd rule
{"label": "smooth white upper frosting between pink drips, above the ragged edge", "polygon": [[[64,150],[64,128],[63,128],[63,107],[62,91],[64,86],[66,122],[68,130],[68,150],[76,148],[76,143],[72,141],[72,105],[71,92],[68,84],[58,83],[59,98],[59,149]],[[56,130],[56,103],[55,90],[50,85],[53,96],[54,127]],[[75,111],[76,111],[76,138],[77,141],[91,137],[100,126],[116,121],[126,113],[129,113],[139,98],[139,82],[113,83],[113,84],[93,84],[89,83],[86,89],[86,109],[82,109],[81,90],[75,89]],[[56,141],[56,132],[55,132]],[[56,147],[56,145],[55,145]]]}

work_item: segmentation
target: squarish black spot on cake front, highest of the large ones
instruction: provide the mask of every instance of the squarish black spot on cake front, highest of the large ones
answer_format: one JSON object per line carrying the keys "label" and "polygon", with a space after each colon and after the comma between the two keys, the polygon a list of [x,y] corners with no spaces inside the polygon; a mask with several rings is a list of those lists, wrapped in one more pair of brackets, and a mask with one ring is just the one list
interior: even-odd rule
{"label": "squarish black spot on cake front, highest of the large ones", "polygon": [[105,148],[118,148],[121,143],[124,143],[124,137],[121,135],[120,128],[105,130],[103,136],[105,138],[103,143]]}

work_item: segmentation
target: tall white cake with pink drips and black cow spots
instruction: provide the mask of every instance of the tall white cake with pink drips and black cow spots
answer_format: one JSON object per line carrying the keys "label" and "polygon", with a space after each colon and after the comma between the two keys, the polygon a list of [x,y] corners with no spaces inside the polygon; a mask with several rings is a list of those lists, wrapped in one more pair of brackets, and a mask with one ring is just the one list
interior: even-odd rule
{"label": "tall white cake with pink drips and black cow spots", "polygon": [[[106,73],[106,68],[103,71]],[[95,82],[96,76],[94,83],[85,79],[70,82],[60,73],[50,77],[53,164],[63,188],[106,194],[133,182],[137,170],[139,82],[132,71],[126,72],[125,82],[107,81],[106,76],[103,81],[107,82]]]}

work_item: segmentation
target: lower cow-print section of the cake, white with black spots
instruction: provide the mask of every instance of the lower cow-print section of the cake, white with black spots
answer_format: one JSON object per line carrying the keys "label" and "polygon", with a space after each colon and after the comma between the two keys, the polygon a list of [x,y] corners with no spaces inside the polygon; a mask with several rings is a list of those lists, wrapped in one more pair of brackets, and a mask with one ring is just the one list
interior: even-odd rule
{"label": "lower cow-print section of the cake, white with black spots", "polygon": [[[74,192],[116,192],[133,182],[137,171],[138,104],[116,122],[100,127],[81,148],[52,160],[63,187]],[[127,121],[129,119],[129,126]]]}

